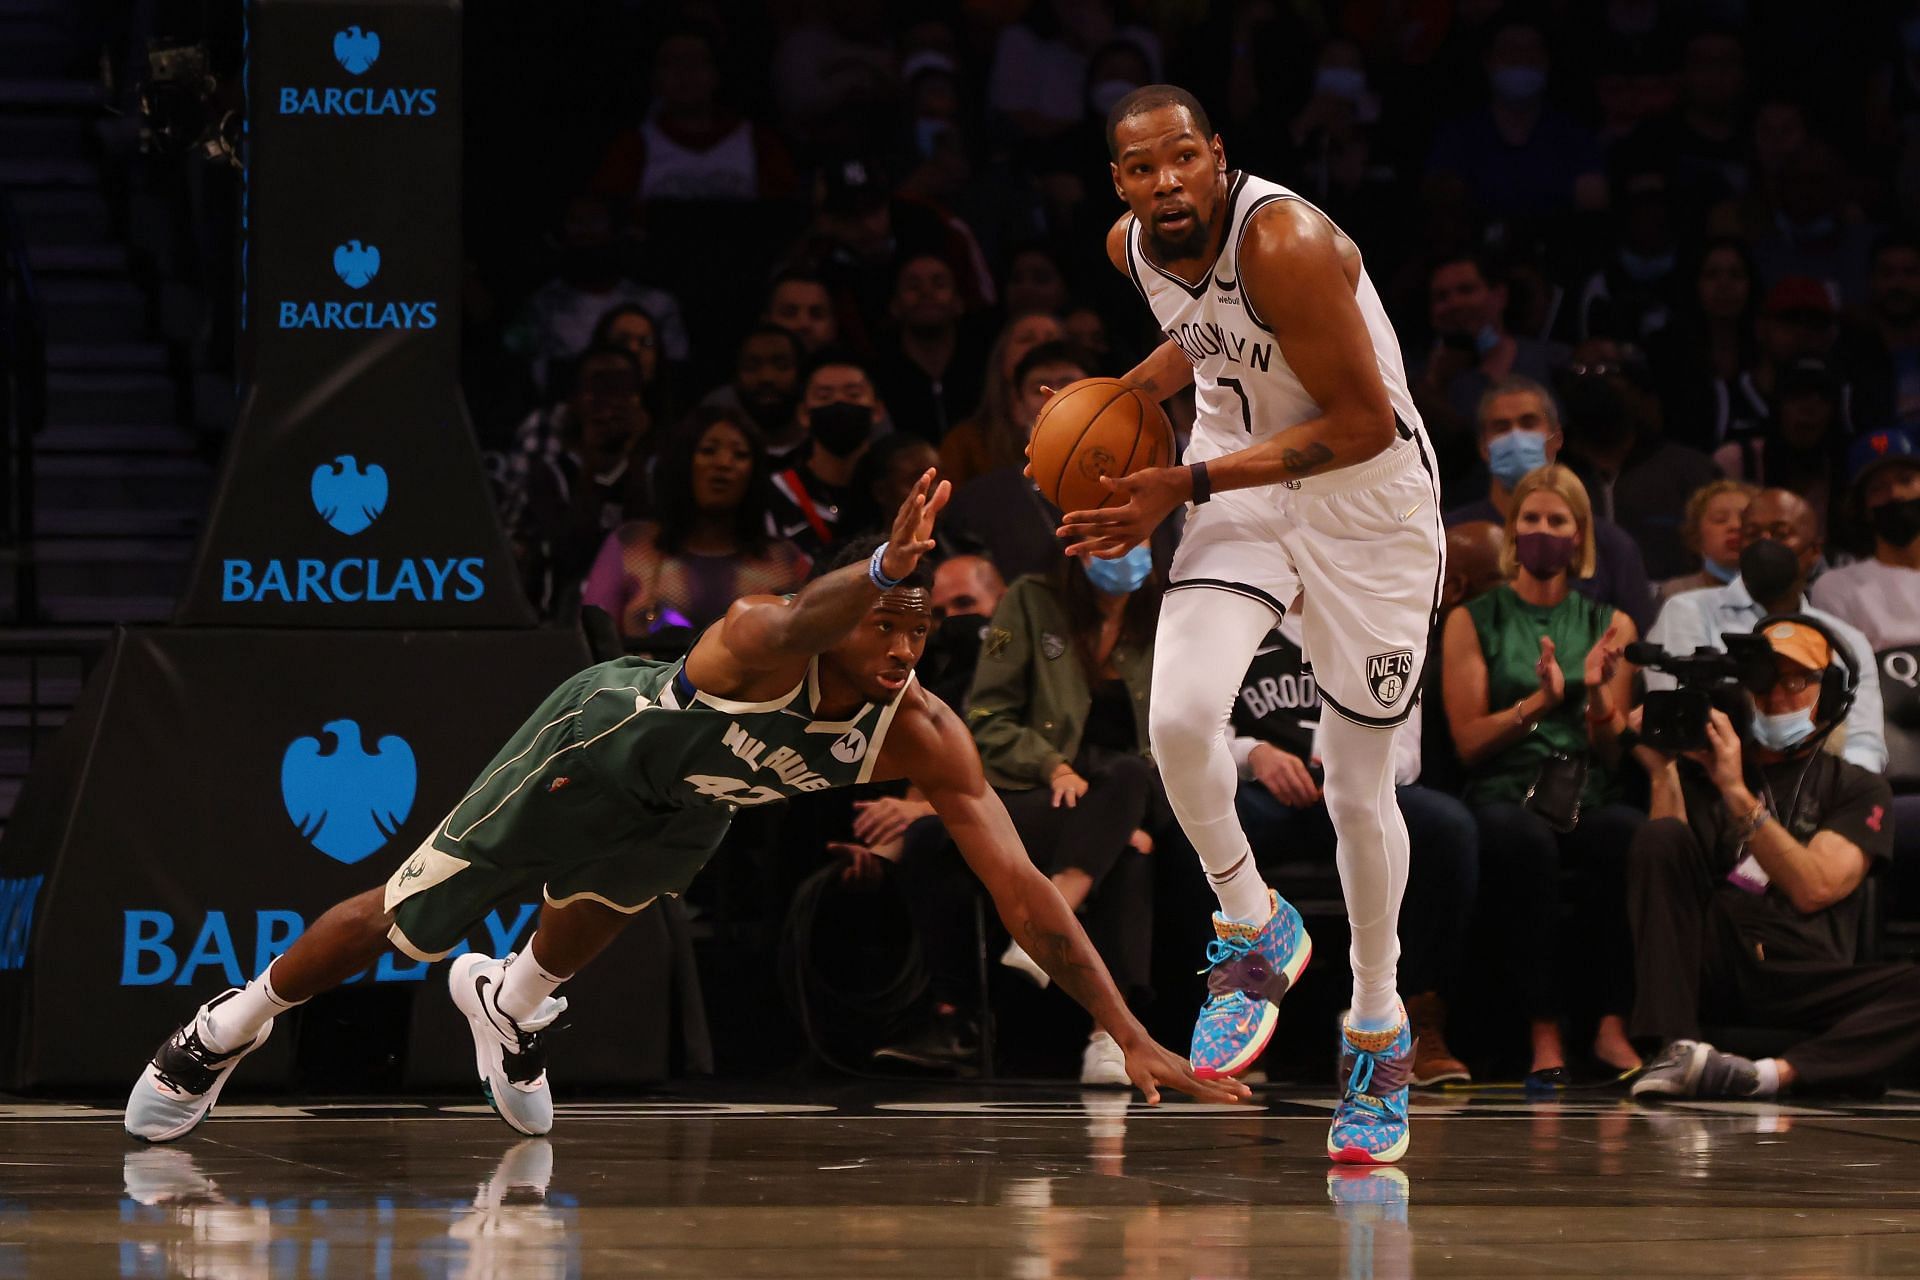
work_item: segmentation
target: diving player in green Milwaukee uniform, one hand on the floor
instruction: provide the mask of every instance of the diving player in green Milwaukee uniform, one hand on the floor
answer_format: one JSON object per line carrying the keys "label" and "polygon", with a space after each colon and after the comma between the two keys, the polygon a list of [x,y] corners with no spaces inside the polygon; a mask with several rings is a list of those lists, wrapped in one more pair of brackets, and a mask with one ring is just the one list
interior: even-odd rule
{"label": "diving player in green Milwaukee uniform, one hand on the floor", "polygon": [[488,1102],[516,1130],[543,1134],[553,1126],[543,1032],[566,1007],[553,994],[561,983],[659,894],[682,892],[743,806],[902,777],[939,812],[1027,954],[1121,1046],[1148,1102],[1162,1084],[1210,1102],[1246,1098],[1235,1080],[1194,1079],[1127,1011],[1021,848],[973,739],[914,681],[931,626],[920,558],[948,497],[931,484],[927,472],[914,486],[889,541],[856,545],[870,555],[795,597],[735,601],[682,662],[616,658],[561,685],[384,887],[321,915],[161,1044],[127,1100],[127,1132],[186,1134],[278,1013],[388,946],[440,960],[488,910],[538,885],[526,946],[505,960],[467,952],[447,983]]}

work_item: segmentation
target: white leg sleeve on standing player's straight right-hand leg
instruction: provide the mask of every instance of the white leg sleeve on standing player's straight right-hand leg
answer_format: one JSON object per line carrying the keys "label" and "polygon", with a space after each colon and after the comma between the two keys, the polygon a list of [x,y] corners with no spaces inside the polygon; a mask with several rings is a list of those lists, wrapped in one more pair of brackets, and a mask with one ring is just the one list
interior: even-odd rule
{"label": "white leg sleeve on standing player's straight right-hand leg", "polygon": [[1340,887],[1354,927],[1354,1025],[1398,1015],[1400,898],[1407,889],[1407,823],[1394,796],[1394,729],[1321,712],[1327,812],[1340,839]]}

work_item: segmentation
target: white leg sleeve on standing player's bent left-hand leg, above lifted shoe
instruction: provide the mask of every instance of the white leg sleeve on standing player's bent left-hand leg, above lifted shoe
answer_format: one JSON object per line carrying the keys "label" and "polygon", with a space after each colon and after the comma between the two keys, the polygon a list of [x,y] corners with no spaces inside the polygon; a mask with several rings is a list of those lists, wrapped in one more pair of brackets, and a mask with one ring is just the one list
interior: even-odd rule
{"label": "white leg sleeve on standing player's bent left-hand leg, above lifted shoe", "polygon": [[1154,762],[1229,919],[1267,919],[1267,885],[1233,810],[1240,779],[1227,750],[1227,716],[1275,622],[1260,601],[1187,587],[1167,593],[1154,639]]}

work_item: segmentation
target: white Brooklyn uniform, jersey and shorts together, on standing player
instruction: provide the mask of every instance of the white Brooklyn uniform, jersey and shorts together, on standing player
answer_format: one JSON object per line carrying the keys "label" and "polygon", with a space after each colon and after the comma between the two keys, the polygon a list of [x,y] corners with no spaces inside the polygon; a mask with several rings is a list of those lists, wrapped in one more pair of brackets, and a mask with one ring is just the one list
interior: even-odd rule
{"label": "white Brooklyn uniform, jersey and shorts together, on standing player", "polygon": [[[1248,219],[1275,200],[1300,198],[1244,173],[1229,178],[1227,192],[1227,236],[1213,271],[1196,286],[1146,261],[1139,225],[1127,228],[1133,282],[1194,367],[1200,415],[1188,462],[1236,453],[1319,416],[1240,284]],[[1419,697],[1440,604],[1440,489],[1394,326],[1365,271],[1356,299],[1400,418],[1398,438],[1354,466],[1215,491],[1187,520],[1167,591],[1225,591],[1275,614],[1296,612],[1302,656],[1313,668],[1321,702],[1356,723],[1394,727]],[[1162,628],[1156,668],[1225,662],[1238,672],[1254,656],[1223,654],[1213,629],[1190,629],[1169,635]]]}

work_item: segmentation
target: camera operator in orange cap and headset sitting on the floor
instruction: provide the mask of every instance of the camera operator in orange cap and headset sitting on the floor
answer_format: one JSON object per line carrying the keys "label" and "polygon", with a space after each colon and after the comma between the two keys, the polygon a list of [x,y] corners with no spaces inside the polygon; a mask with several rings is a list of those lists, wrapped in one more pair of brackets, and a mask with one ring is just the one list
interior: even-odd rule
{"label": "camera operator in orange cap and headset sitting on the floor", "polygon": [[[1634,747],[1653,812],[1628,854],[1632,1031],[1663,1044],[1634,1098],[1770,1098],[1793,1084],[1874,1080],[1920,1050],[1920,967],[1859,954],[1860,885],[1891,860],[1893,796],[1880,773],[1820,750],[1857,668],[1805,616],[1766,618],[1759,633],[1774,677],[1747,693],[1745,739],[1713,710],[1709,748],[1686,752],[1686,764]],[[1805,1038],[1749,1061],[1699,1040],[1701,1021]]]}

